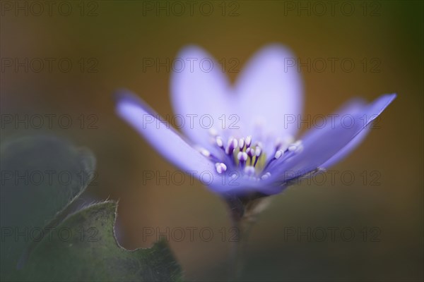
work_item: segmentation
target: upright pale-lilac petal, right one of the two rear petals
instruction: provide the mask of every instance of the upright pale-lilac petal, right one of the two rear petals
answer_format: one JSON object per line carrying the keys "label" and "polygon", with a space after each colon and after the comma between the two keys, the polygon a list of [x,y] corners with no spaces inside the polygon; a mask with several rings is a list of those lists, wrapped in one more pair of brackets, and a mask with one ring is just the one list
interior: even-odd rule
{"label": "upright pale-lilac petal, right one of the two rear petals", "polygon": [[285,124],[289,115],[302,114],[303,87],[295,62],[288,49],[271,44],[247,63],[235,85],[245,135],[259,130],[262,140],[269,136],[275,140],[297,133],[296,123]]}

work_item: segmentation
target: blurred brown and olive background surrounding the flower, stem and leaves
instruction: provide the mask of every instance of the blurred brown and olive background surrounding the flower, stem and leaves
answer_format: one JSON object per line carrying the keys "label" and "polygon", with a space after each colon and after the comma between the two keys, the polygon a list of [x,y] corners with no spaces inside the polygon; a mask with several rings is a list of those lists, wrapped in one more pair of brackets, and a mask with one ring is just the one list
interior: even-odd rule
{"label": "blurred brown and olive background surrounding the flower, stem and leaves", "polygon": [[[422,2],[52,3],[1,2],[1,142],[46,133],[90,148],[98,174],[83,197],[119,200],[124,247],[148,247],[167,233],[187,280],[222,280],[232,233],[225,205],[201,183],[143,178],[143,171],[156,176],[177,168],[117,117],[114,90],[132,90],[172,115],[167,60],[179,49],[204,47],[234,82],[249,56],[280,42],[305,63],[305,114],[330,114],[356,96],[398,97],[379,128],[332,168],[354,180],[339,173],[334,182],[328,176],[273,197],[249,237],[243,278],[423,280]],[[51,126],[45,118],[36,128],[8,123],[6,115],[55,116]]]}

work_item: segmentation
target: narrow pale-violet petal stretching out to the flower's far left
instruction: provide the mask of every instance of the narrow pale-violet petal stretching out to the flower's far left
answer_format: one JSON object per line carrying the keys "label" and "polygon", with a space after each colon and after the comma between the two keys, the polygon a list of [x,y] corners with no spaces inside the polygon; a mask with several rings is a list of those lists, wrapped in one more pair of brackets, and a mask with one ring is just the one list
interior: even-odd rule
{"label": "narrow pale-violet petal stretching out to the flower's far left", "polygon": [[172,164],[186,173],[196,171],[193,175],[197,178],[201,173],[207,173],[212,176],[213,182],[219,183],[215,165],[183,140],[170,125],[160,121],[162,118],[134,94],[117,94],[117,113]]}

